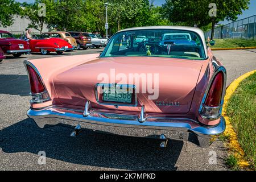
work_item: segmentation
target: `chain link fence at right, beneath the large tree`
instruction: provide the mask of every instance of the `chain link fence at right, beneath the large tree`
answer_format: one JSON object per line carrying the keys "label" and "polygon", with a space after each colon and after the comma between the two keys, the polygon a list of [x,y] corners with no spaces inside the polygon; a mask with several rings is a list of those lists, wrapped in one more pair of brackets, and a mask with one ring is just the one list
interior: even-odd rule
{"label": "chain link fence at right, beneath the large tree", "polygon": [[[211,30],[205,33],[210,37]],[[256,15],[214,29],[214,39],[256,40]]]}

